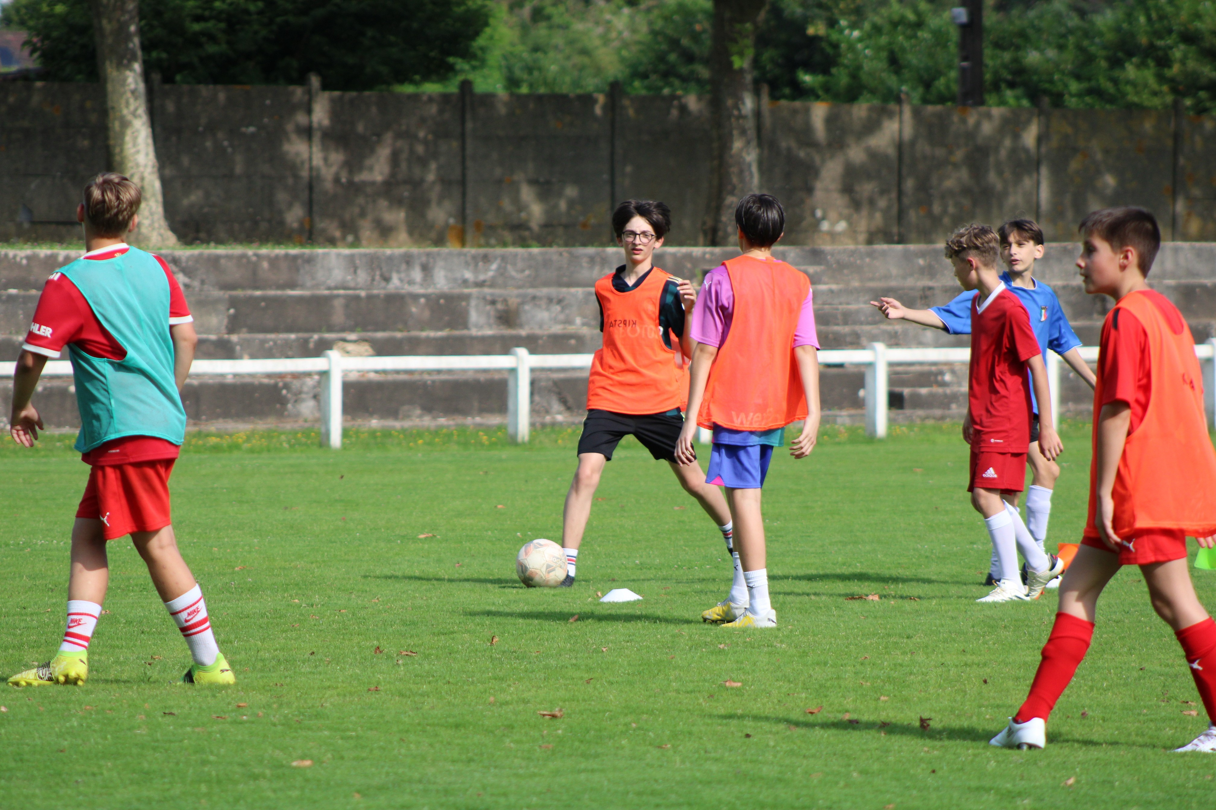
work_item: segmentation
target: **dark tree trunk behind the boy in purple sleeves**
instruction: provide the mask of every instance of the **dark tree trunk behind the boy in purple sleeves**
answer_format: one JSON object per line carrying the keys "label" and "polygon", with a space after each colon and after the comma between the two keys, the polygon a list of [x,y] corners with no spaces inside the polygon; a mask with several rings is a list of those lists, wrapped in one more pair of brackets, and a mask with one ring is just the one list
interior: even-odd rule
{"label": "dark tree trunk behind the boy in purple sleeves", "polygon": [[760,136],[753,62],[756,27],[767,0],[714,0],[710,50],[713,164],[705,242],[736,242],[734,206],[759,191]]}

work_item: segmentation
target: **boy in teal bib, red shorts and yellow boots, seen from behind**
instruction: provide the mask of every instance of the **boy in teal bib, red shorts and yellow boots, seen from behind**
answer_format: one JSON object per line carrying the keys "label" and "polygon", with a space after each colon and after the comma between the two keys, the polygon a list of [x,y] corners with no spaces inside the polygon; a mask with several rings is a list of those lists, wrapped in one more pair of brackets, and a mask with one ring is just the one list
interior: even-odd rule
{"label": "boy in teal bib, red shorts and yellow boots, seen from behind", "polygon": [[10,434],[33,447],[43,420],[30,398],[46,359],[67,347],[80,408],[75,449],[91,470],[72,528],[63,641],[49,663],[10,678],[15,686],[84,684],[109,582],[106,543],[126,534],[190,647],[182,680],[236,682],[170,521],[169,475],[186,431],[179,391],[198,338],[169,266],[123,242],[139,205],[139,187],[122,175],[85,186],[77,220],[88,253],[47,279],[17,359]]}

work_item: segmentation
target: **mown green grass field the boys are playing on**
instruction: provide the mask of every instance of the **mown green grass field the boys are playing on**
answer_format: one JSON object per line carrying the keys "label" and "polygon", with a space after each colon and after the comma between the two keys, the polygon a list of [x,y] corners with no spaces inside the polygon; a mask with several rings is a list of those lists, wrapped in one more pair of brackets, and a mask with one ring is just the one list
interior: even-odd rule
{"label": "mown green grass field the boys are playing on", "polygon": [[[699,621],[730,583],[721,539],[637,444],[608,465],[578,584],[528,590],[514,554],[559,537],[576,431],[192,436],[174,522],[237,686],[176,682],[185,645],[112,543],[89,682],[0,687],[0,806],[1211,808],[1216,758],[1169,753],[1204,713],[1136,570],[1049,747],[987,746],[1054,600],[974,604],[989,544],[957,427],[895,434],[775,459],[781,627],[750,631]],[[1088,437],[1064,438],[1052,534],[1075,540]],[[86,471],[67,437],[0,449],[5,674],[58,644]],[[614,587],[644,600],[601,605]]]}

